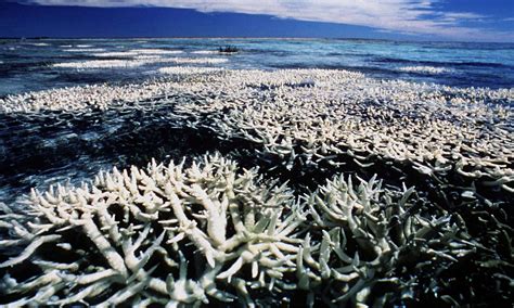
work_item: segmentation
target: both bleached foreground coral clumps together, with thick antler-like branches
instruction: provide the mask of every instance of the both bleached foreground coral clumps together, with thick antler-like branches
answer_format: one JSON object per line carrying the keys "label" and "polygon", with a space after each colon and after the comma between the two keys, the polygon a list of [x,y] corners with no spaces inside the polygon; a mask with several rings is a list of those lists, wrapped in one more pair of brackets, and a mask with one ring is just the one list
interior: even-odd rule
{"label": "both bleached foreground coral clumps together, with thick antler-like branches", "polygon": [[3,303],[254,306],[305,290],[303,305],[385,304],[410,294],[394,270],[475,247],[446,213],[416,208],[412,188],[342,175],[298,195],[219,154],[33,191],[27,217],[1,219],[3,246],[17,249],[0,264]]}

